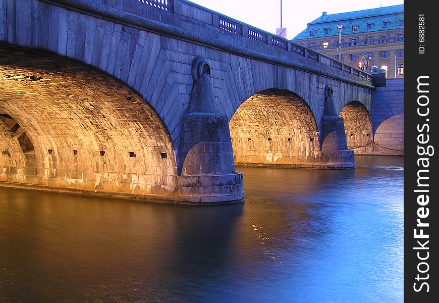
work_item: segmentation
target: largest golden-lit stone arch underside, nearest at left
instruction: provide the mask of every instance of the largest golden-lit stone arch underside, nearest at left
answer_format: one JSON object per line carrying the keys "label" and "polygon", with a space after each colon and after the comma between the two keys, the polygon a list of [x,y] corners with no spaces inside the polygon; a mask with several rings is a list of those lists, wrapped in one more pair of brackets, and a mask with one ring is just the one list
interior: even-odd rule
{"label": "largest golden-lit stone arch underside, nearest at left", "polygon": [[[0,181],[129,197],[173,194],[172,140],[134,90],[48,53],[0,47],[0,58]],[[18,140],[14,128],[23,131]]]}

